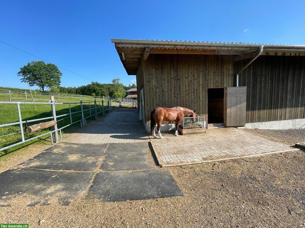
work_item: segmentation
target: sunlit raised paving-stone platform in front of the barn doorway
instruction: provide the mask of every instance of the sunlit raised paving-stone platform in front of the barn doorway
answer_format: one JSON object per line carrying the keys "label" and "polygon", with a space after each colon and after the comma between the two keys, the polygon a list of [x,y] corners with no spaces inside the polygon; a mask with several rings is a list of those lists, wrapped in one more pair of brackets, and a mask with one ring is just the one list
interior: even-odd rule
{"label": "sunlit raised paving-stone platform in front of the barn doorway", "polygon": [[163,136],[163,139],[151,138],[156,156],[163,166],[293,149],[236,128],[209,129],[206,134]]}

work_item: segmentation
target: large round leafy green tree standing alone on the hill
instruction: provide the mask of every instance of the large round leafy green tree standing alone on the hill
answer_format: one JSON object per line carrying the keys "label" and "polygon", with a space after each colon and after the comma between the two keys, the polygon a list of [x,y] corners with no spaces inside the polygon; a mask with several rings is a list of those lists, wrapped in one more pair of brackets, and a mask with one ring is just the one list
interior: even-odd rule
{"label": "large round leafy green tree standing alone on the hill", "polygon": [[52,86],[58,88],[63,74],[52,63],[45,64],[44,61],[32,61],[21,67],[17,75],[22,77],[20,79],[22,82],[26,82],[30,86],[37,85],[44,92],[45,88],[51,88]]}

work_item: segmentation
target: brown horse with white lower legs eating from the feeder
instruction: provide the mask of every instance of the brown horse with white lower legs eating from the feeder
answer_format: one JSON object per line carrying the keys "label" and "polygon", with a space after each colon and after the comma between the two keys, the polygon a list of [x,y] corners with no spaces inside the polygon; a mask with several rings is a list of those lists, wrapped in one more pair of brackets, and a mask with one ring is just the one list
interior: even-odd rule
{"label": "brown horse with white lower legs eating from the feeder", "polygon": [[[162,108],[162,107],[158,107],[158,108],[154,109],[152,111],[152,113],[150,114],[150,130],[151,130],[152,136],[155,138],[157,137],[156,132],[155,132],[155,127],[157,124],[158,134],[161,139],[163,138],[160,133],[160,126],[161,126],[162,120],[165,120],[168,122],[175,121],[175,123],[176,123],[175,135],[178,136],[178,126],[184,116],[195,117],[196,110],[193,111],[191,109],[187,109],[187,108],[179,107],[179,106],[176,106],[171,109]],[[195,121],[195,118],[193,118],[193,120]]]}

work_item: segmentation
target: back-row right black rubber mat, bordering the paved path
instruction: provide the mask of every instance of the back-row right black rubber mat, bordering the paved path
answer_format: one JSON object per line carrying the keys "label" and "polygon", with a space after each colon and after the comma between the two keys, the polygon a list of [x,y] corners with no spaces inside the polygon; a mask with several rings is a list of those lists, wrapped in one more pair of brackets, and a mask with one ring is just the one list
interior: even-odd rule
{"label": "back-row right black rubber mat, bordering the paved path", "polygon": [[148,143],[109,143],[105,154],[147,154],[148,150]]}

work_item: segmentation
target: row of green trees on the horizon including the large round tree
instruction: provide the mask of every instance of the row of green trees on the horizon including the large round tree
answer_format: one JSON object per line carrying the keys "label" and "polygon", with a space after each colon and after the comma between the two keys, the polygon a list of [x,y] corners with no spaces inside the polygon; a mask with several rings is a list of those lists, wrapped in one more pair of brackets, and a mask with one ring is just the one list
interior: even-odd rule
{"label": "row of green trees on the horizon including the large round tree", "polygon": [[60,86],[62,73],[56,65],[46,64],[44,61],[28,62],[27,65],[20,68],[17,75],[21,77],[22,82],[26,82],[29,86],[36,85],[42,92],[124,98],[129,95],[126,90],[137,88],[135,84],[124,86],[120,83],[119,78],[114,78],[112,83],[109,84],[101,84],[95,81],[78,87]]}

